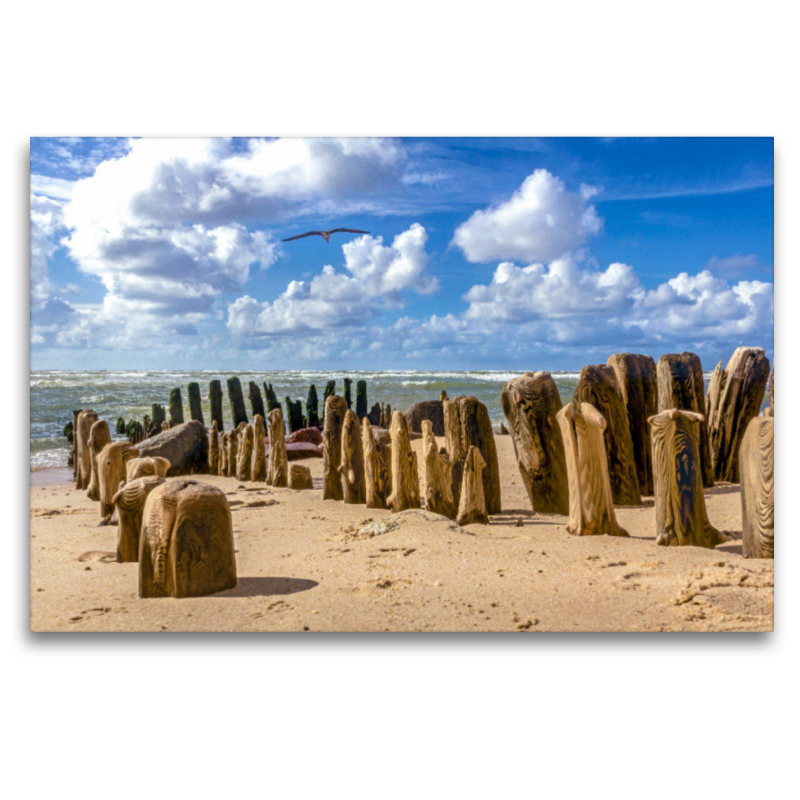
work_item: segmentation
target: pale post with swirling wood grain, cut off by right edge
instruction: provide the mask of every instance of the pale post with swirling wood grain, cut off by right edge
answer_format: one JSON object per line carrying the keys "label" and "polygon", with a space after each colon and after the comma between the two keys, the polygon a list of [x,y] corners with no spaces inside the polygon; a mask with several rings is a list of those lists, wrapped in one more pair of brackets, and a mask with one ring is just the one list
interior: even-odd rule
{"label": "pale post with swirling wood grain, cut off by right edge", "polygon": [[742,554],[775,558],[775,420],[754,417],[739,448]]}

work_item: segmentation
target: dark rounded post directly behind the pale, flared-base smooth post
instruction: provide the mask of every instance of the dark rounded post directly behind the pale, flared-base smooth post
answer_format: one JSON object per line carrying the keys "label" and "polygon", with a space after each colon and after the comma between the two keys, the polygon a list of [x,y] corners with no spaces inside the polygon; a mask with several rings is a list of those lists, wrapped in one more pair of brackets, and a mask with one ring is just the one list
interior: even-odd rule
{"label": "dark rounded post directly behind the pale, flared-base smooth post", "polygon": [[614,370],[605,364],[584,367],[572,402],[576,416],[580,414],[578,409],[581,409],[581,405],[588,403],[606,420],[603,438],[614,502],[621,506],[640,506],[642,496],[633,458],[628,412],[622,402]]}

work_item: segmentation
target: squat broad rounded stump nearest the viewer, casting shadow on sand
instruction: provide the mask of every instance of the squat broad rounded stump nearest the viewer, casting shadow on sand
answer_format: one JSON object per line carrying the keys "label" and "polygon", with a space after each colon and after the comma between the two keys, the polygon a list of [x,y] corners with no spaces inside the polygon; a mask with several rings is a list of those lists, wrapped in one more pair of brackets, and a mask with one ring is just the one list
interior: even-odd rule
{"label": "squat broad rounded stump nearest the viewer, casting shadow on sand", "polygon": [[188,478],[173,478],[150,492],[139,546],[139,597],[203,597],[234,586],[225,493]]}

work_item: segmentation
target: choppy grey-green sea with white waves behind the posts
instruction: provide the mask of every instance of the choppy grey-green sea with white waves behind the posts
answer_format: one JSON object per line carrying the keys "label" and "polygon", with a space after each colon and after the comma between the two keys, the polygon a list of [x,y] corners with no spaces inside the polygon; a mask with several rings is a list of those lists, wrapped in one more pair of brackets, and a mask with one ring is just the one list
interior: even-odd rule
{"label": "choppy grey-green sea with white waves behind the posts", "polygon": [[[264,395],[264,383],[271,383],[278,398],[302,400],[303,408],[308,389],[313,383],[321,401],[325,385],[329,380],[336,381],[336,391],[344,393],[344,378],[351,378],[352,398],[355,403],[356,382],[367,382],[367,401],[389,403],[392,409],[405,411],[421,400],[437,400],[442,390],[448,397],[472,395],[486,405],[492,425],[497,428],[505,421],[500,406],[500,393],[503,386],[521,372],[313,372],[306,370],[280,372],[237,372],[224,373],[212,370],[195,372],[127,372],[127,371],[66,371],[41,370],[30,373],[31,400],[31,470],[48,467],[65,467],[71,446],[63,434],[64,426],[72,422],[73,409],[92,408],[101,419],[109,423],[112,436],[115,436],[116,421],[119,417],[142,420],[145,414],[152,414],[153,403],[165,408],[169,403],[170,390],[180,387],[183,398],[185,418],[189,419],[189,398],[187,385],[196,381],[200,385],[203,415],[208,424],[211,409],[208,401],[209,382],[218,379],[222,382],[223,416],[225,427],[232,427],[232,415],[228,403],[226,378],[238,376],[242,383],[248,416],[248,384],[255,381]],[[568,403],[580,377],[579,372],[551,372],[558,386],[561,400]],[[711,373],[705,375],[706,384]],[[286,413],[284,411],[284,413]]]}

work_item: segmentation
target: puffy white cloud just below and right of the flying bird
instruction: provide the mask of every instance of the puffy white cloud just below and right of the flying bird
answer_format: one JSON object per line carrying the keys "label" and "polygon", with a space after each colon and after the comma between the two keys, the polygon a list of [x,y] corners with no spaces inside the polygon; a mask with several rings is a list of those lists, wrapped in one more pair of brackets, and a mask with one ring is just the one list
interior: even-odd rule
{"label": "puffy white cloud just below and right of the flying bird", "polygon": [[309,334],[360,325],[385,308],[401,308],[403,292],[431,294],[436,277],[427,271],[428,235],[414,223],[395,236],[361,236],[342,246],[346,272],[327,265],[310,281],[292,281],[274,301],[249,295],[228,307],[228,327],[236,336]]}

